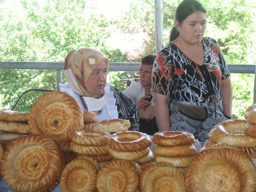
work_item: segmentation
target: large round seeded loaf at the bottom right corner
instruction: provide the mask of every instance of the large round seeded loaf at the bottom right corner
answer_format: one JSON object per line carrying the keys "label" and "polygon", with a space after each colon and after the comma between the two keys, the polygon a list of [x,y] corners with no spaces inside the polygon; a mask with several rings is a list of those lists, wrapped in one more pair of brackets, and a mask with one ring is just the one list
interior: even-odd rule
{"label": "large round seeded loaf at the bottom right corner", "polygon": [[186,177],[189,192],[256,191],[252,160],[234,148],[208,148],[191,161]]}

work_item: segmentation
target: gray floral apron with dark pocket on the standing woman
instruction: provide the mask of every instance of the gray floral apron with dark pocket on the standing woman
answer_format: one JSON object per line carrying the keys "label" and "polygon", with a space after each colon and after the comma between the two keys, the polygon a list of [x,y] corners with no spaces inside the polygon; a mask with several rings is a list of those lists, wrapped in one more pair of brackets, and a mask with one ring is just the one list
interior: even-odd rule
{"label": "gray floral apron with dark pocket on the standing woman", "polygon": [[221,101],[213,103],[195,103],[172,100],[171,131],[192,133],[197,140],[205,142],[209,132],[219,123],[230,119],[221,110]]}

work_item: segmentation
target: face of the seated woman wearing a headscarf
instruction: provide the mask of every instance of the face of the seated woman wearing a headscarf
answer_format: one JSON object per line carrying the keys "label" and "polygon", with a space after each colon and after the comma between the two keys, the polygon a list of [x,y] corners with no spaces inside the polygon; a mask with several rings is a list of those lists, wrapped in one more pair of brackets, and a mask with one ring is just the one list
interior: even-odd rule
{"label": "face of the seated woman wearing a headscarf", "polygon": [[98,95],[103,93],[107,81],[107,72],[106,61],[101,61],[92,71],[85,84],[85,88],[90,94]]}

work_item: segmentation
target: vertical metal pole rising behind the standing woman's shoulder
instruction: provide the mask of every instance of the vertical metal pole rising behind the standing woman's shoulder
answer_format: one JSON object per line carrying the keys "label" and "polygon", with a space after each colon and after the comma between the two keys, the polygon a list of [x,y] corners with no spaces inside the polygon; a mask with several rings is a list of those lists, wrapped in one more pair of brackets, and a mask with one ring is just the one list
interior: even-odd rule
{"label": "vertical metal pole rising behind the standing woman's shoulder", "polygon": [[155,0],[156,54],[163,48],[163,4]]}

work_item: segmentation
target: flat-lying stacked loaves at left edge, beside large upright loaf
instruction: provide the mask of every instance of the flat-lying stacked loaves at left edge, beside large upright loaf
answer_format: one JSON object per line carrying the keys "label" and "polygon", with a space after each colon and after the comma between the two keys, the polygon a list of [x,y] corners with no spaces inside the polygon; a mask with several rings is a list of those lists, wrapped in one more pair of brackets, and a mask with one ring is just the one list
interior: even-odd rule
{"label": "flat-lying stacked loaves at left edge, beside large upright loaf", "polygon": [[0,139],[4,147],[9,147],[18,137],[30,134],[28,126],[29,112],[4,110],[0,112]]}

